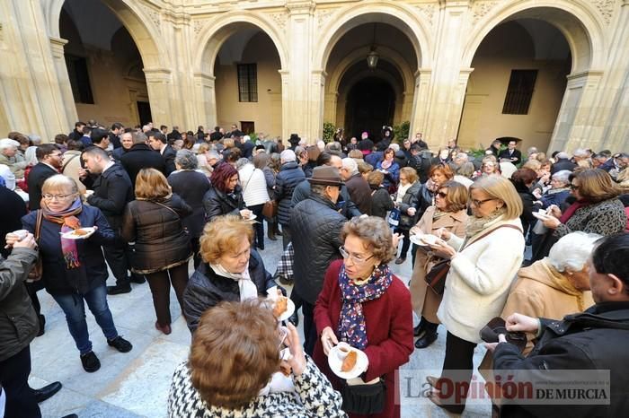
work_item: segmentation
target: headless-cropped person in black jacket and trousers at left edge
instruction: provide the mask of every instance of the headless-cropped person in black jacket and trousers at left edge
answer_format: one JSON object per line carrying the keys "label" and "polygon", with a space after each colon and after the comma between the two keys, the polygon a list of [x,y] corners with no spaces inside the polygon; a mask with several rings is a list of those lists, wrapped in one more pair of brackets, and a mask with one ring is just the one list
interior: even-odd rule
{"label": "headless-cropped person in black jacket and trousers at left edge", "polygon": [[37,260],[32,234],[13,243],[13,251],[0,258],[0,388],[6,394],[5,418],[39,417],[40,402],[55,395],[61,383],[39,390],[29,386],[31,341],[40,329],[24,281]]}

